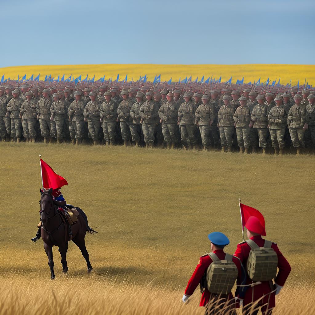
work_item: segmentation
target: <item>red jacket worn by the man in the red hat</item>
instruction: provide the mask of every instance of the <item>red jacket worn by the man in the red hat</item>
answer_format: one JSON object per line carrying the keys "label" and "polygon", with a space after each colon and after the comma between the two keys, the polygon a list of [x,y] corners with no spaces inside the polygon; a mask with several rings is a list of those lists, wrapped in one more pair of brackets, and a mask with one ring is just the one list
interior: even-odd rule
{"label": "red jacket worn by the man in the red hat", "polygon": [[[261,238],[260,235],[254,236],[250,238],[255,241],[255,243],[262,247],[264,246],[265,240]],[[281,254],[280,250],[278,249],[278,246],[276,243],[272,243],[271,248],[277,253],[278,256],[278,268],[279,272],[275,279],[275,283],[281,286],[284,286],[285,280],[288,278],[289,273],[291,271],[291,267],[288,263],[288,261],[284,258],[284,256]],[[238,257],[240,261],[243,263],[243,266],[246,268],[247,259],[249,256],[251,248],[246,242],[239,243],[237,246],[237,249],[235,251],[234,256]],[[247,275],[247,281],[246,284],[251,284],[253,281],[248,277]],[[265,297],[258,302],[259,305],[262,304],[268,304],[269,308],[275,307],[275,293],[271,293],[271,291],[274,290],[274,285],[272,281],[263,281],[261,284],[255,285],[254,287],[248,287],[243,305],[247,305],[252,303],[253,301],[257,301],[262,296],[265,295]],[[254,291],[254,292],[253,292]],[[252,301],[253,300],[253,301]]]}

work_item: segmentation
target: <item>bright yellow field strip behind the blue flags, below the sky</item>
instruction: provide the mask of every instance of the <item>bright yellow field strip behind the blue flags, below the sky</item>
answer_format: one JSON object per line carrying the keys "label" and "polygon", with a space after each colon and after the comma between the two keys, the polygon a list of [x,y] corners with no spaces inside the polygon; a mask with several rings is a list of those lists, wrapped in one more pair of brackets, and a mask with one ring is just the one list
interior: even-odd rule
{"label": "bright yellow field strip behind the blue flags, below the sky", "polygon": [[43,80],[45,75],[52,75],[55,79],[60,75],[60,78],[65,74],[65,78],[72,76],[78,77],[82,74],[82,79],[88,74],[89,77],[99,79],[105,75],[105,79],[117,78],[120,75],[120,80],[123,80],[128,74],[128,81],[133,78],[138,80],[140,75],[147,74],[148,80],[153,81],[155,75],[161,74],[161,81],[168,81],[171,77],[173,81],[178,81],[179,78],[184,79],[186,76],[192,76],[201,79],[204,75],[205,79],[213,76],[218,79],[222,76],[222,82],[230,79],[232,83],[236,83],[237,79],[244,77],[244,82],[252,82],[261,77],[261,82],[270,78],[270,84],[273,80],[281,78],[280,83],[296,84],[300,80],[300,84],[306,82],[310,85],[315,85],[315,65],[155,65],[155,64],[102,64],[102,65],[56,65],[56,66],[15,66],[0,68],[1,76],[5,74],[5,78],[17,79],[26,74],[29,78],[32,74],[34,77],[40,73],[40,79]]}

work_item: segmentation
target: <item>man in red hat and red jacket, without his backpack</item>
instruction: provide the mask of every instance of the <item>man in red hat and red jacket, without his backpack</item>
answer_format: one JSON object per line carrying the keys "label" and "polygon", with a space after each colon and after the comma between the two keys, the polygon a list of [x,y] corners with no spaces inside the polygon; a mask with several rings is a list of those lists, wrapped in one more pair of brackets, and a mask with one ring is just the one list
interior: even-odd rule
{"label": "man in red hat and red jacket, without his backpack", "polygon": [[[247,237],[252,239],[259,247],[263,247],[265,240],[261,238],[261,235],[265,236],[265,228],[261,225],[258,218],[251,216],[247,220],[245,227],[247,229]],[[275,284],[272,281],[262,281],[255,286],[247,286],[247,290],[244,296],[244,300],[240,300],[240,304],[243,304],[243,314],[256,315],[261,308],[263,315],[271,315],[272,308],[275,307],[275,295],[277,295],[283,288],[285,280],[288,278],[291,271],[291,267],[288,261],[281,254],[276,243],[272,243],[271,248],[276,252],[278,256],[278,268],[279,272],[275,278]],[[251,248],[248,243],[239,243],[235,251],[234,256],[238,257],[243,266],[246,266],[247,259]],[[246,284],[254,283],[247,275]],[[251,307],[255,305],[254,311],[251,311]]]}

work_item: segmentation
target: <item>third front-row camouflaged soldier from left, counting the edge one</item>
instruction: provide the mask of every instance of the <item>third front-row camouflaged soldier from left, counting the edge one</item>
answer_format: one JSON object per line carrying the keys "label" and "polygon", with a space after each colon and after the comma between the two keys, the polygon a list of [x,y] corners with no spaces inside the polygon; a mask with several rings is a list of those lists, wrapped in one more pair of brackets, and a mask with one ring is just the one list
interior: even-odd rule
{"label": "third front-row camouflaged soldier from left, counting the edge one", "polygon": [[20,109],[20,118],[22,118],[23,135],[26,142],[35,143],[36,139],[36,100],[33,99],[33,92],[25,93],[26,99],[23,101]]}

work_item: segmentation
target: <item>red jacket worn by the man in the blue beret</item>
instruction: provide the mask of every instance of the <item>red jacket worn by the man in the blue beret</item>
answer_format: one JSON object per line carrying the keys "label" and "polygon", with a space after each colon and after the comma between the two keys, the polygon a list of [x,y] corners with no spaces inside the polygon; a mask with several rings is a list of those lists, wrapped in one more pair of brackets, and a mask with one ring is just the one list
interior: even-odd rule
{"label": "red jacket worn by the man in the blue beret", "polygon": [[[219,259],[221,260],[225,259],[225,252],[223,251],[223,249],[215,250],[214,253],[215,255],[218,256]],[[242,272],[243,267],[240,261],[236,257],[233,257],[232,261],[234,262],[234,264],[237,266],[237,269],[238,269],[237,284],[241,284],[243,280],[242,278],[244,278],[244,271]],[[207,268],[209,267],[211,263],[212,263],[212,259],[210,258],[209,255],[203,255],[200,257],[199,263],[194,273],[192,274],[191,278],[188,281],[188,284],[185,290],[186,295],[192,295],[194,293],[195,289],[198,287],[198,284],[200,283],[201,278],[203,277],[204,273],[207,271]],[[205,290],[203,291],[201,295],[199,306],[206,306],[206,304],[209,302],[210,297],[212,298],[212,293],[210,293],[208,289],[205,288]],[[227,300],[232,301],[232,299],[234,299],[234,297],[232,293],[230,292],[228,294]]]}

